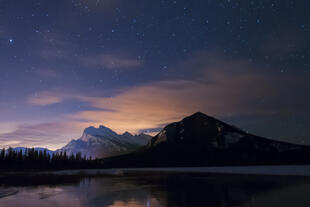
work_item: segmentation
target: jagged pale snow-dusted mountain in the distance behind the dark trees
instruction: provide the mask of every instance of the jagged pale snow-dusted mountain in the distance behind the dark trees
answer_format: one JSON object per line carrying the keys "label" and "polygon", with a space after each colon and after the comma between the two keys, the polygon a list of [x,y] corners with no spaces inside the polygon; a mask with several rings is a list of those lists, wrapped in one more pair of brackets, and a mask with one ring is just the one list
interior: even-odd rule
{"label": "jagged pale snow-dusted mountain in the distance behind the dark trees", "polygon": [[150,139],[151,137],[146,134],[132,135],[129,132],[117,134],[105,126],[88,127],[81,138],[70,141],[57,151],[66,151],[67,154],[81,152],[83,156],[104,158],[133,152],[146,145]]}

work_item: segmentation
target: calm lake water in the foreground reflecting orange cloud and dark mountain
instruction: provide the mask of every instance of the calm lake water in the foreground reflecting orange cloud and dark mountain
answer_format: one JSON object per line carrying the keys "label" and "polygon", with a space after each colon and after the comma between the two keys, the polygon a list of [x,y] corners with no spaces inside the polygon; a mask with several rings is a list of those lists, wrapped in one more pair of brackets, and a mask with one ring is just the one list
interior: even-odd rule
{"label": "calm lake water in the foreground reflecting orange cloud and dark mountain", "polygon": [[1,207],[310,206],[309,179],[293,177],[157,174],[79,178],[66,184],[25,181],[2,183]]}

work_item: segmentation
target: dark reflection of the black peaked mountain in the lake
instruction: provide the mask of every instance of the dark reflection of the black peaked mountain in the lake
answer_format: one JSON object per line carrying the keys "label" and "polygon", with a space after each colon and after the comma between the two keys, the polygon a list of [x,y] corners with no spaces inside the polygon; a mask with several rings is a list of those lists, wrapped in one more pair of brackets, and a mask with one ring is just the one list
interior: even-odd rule
{"label": "dark reflection of the black peaked mountain in the lake", "polygon": [[[294,180],[294,178],[268,176],[242,177],[172,174],[164,176],[162,179],[156,177],[148,178],[146,182],[156,186],[151,190],[151,194],[164,204],[162,206],[230,207],[246,206],[249,202],[255,201],[257,197],[265,197],[270,192],[275,192],[276,194],[281,189],[291,189],[295,186],[300,186],[305,180],[298,181]],[[307,182],[309,184],[309,181]],[[297,194],[298,192],[292,193]],[[268,206],[268,202],[267,200],[262,206]]]}

